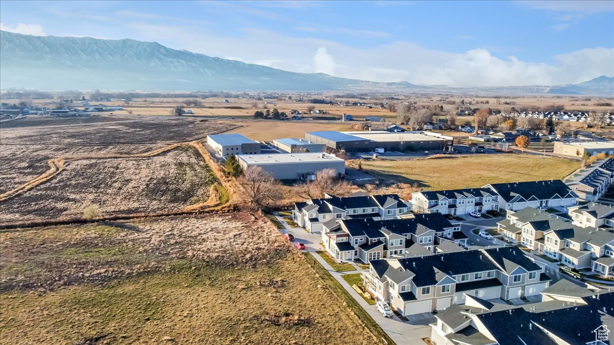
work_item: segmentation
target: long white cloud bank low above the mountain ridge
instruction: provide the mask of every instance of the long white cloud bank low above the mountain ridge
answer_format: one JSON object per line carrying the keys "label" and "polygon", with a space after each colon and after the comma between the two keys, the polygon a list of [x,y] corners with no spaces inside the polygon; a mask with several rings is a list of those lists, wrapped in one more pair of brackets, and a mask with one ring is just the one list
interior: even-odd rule
{"label": "long white cloud bank low above the mountain ridge", "polygon": [[[552,63],[500,58],[492,49],[449,53],[405,41],[367,47],[308,37],[290,37],[262,29],[222,36],[186,26],[135,25],[136,33],[210,56],[263,64],[293,72],[324,72],[336,77],[422,85],[508,86],[577,83],[613,76],[614,48],[589,48],[553,56]],[[280,49],[279,47],[283,47]],[[314,54],[315,52],[315,54]],[[544,56],[548,58],[548,56]]]}

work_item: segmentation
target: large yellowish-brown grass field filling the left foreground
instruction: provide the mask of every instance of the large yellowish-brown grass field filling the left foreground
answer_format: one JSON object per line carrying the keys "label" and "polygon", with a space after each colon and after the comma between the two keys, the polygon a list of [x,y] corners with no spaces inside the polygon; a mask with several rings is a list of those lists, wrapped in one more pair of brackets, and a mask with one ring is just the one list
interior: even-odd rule
{"label": "large yellowish-brown grass field filling the left foreground", "polygon": [[0,245],[5,343],[375,343],[265,218],[31,228]]}

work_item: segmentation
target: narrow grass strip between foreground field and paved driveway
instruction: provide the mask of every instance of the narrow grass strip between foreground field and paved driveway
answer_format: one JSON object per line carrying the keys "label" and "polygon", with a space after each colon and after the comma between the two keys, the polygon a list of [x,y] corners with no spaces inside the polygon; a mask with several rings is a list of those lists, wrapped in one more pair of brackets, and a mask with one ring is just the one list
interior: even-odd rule
{"label": "narrow grass strip between foreground field and paved driveway", "polygon": [[367,311],[360,306],[358,301],[354,300],[354,298],[348,291],[346,291],[346,289],[344,289],[340,282],[336,281],[335,277],[328,273],[324,266],[320,265],[320,263],[313,259],[310,253],[306,252],[303,253],[303,255],[305,255],[307,262],[312,262],[313,260],[313,268],[316,270],[316,273],[319,274],[322,281],[328,284],[328,287],[330,287],[330,289],[333,290],[333,292],[335,292],[336,295],[346,303],[348,308],[350,308],[352,312],[356,314],[356,316],[362,321],[365,327],[367,327],[368,330],[373,333],[373,335],[375,335],[378,339],[383,339],[386,344],[394,344],[394,341],[386,334],[386,332],[379,327],[377,322],[375,322]]}

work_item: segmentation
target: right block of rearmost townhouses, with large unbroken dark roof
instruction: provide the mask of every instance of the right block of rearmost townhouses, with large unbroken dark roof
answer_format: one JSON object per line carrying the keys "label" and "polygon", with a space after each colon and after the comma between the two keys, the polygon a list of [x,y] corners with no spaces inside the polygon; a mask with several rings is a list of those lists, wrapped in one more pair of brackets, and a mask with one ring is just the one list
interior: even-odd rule
{"label": "right block of rearmost townhouses, with large unbroken dark roof", "polygon": [[497,193],[499,208],[520,210],[524,207],[572,206],[578,204],[578,195],[562,180],[542,180],[489,184],[484,186]]}

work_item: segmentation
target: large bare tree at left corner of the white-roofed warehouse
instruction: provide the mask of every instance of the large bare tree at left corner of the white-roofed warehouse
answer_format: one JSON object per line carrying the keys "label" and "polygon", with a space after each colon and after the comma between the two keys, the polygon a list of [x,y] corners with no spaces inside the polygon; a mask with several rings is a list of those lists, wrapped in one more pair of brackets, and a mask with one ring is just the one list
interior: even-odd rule
{"label": "large bare tree at left corner of the white-roofed warehouse", "polygon": [[273,178],[270,172],[259,166],[252,166],[247,169],[244,176],[239,179],[239,184],[245,190],[245,202],[251,209],[271,206],[281,198],[279,182]]}

